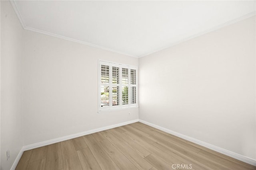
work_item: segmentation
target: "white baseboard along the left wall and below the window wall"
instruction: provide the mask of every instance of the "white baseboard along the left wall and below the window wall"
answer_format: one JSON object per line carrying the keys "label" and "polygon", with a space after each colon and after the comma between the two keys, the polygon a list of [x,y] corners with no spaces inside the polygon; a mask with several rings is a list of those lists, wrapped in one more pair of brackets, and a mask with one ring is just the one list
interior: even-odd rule
{"label": "white baseboard along the left wall and below the window wall", "polygon": [[139,119],[134,119],[134,120],[131,120],[131,121],[126,121],[126,122],[118,123],[118,124],[115,124],[115,125],[109,125],[109,126],[105,126],[105,127],[100,127],[100,128],[92,129],[92,130],[89,130],[89,131],[84,131],[84,132],[76,133],[76,134],[73,134],[73,135],[59,137],[59,138],[56,138],[56,139],[51,139],[51,140],[48,140],[48,141],[43,141],[43,142],[31,144],[31,145],[26,145],[26,146],[22,147],[22,149],[20,150],[20,153],[16,157],[16,160],[14,161],[14,164],[12,165],[11,170],[15,170],[15,168],[16,168],[19,160],[20,160],[20,157],[22,156],[22,153],[25,150],[30,150],[30,149],[35,149],[35,148],[38,148],[38,147],[43,147],[43,146],[50,145],[50,144],[53,144],[53,143],[58,143],[58,142],[61,142],[61,141],[66,141],[68,139],[73,139],[73,138],[76,138],[76,137],[81,137],[81,136],[84,136],[84,135],[89,135],[89,134],[92,134],[92,133],[96,133],[96,132],[112,129],[112,128],[115,128],[115,127],[120,127],[120,126],[128,125],[128,124],[135,123],[135,122],[138,122],[138,121],[139,121]]}

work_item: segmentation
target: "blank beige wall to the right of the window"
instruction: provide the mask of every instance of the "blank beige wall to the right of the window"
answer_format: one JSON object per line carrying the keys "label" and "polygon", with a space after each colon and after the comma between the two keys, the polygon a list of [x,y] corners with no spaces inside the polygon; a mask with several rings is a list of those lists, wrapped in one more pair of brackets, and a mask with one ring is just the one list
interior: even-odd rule
{"label": "blank beige wall to the right of the window", "polygon": [[255,17],[139,59],[140,119],[256,158]]}

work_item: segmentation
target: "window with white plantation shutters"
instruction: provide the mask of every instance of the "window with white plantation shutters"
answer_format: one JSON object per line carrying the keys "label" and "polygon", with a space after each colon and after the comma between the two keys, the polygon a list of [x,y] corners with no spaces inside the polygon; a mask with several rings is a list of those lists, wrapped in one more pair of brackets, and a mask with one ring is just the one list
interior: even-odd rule
{"label": "window with white plantation shutters", "polygon": [[99,63],[99,111],[138,106],[137,67]]}

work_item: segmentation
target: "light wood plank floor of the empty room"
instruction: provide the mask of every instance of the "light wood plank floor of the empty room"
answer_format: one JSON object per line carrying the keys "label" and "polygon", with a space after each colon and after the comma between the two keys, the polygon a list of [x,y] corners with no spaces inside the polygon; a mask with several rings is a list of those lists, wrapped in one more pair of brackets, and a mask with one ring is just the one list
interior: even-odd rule
{"label": "light wood plank floor of the empty room", "polygon": [[170,170],[176,164],[182,165],[177,169],[256,169],[137,122],[27,150],[16,170]]}

